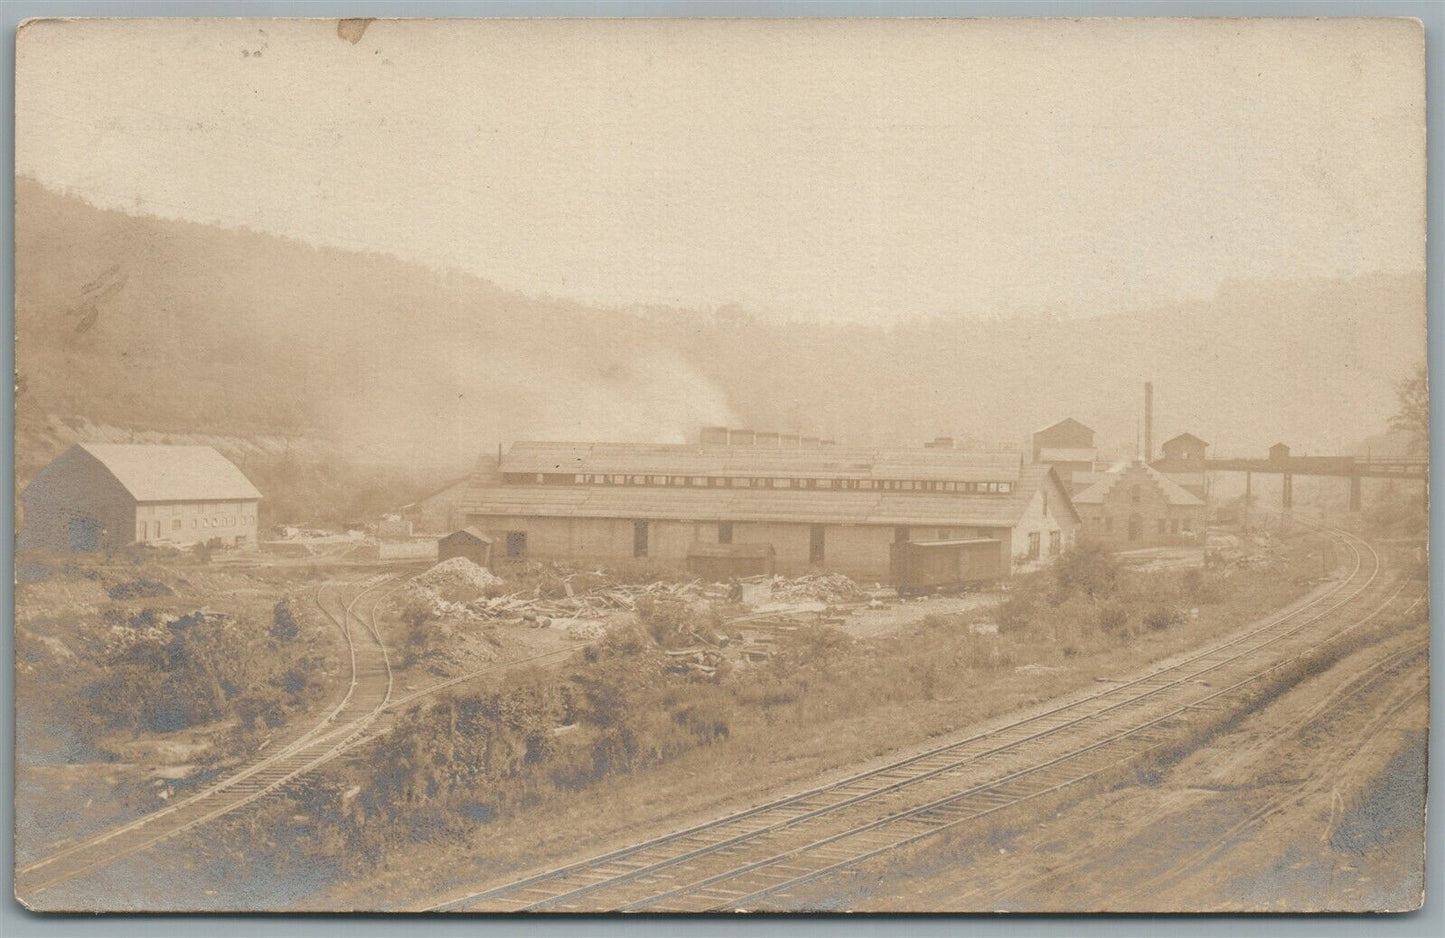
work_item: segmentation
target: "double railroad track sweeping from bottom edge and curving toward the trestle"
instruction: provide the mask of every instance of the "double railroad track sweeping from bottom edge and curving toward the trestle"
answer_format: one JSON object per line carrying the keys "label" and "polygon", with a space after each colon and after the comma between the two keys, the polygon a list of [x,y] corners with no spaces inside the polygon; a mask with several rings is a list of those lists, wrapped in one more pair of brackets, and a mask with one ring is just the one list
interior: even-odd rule
{"label": "double railroad track sweeping from bottom edge and curving toward the trestle", "polygon": [[749,909],[944,830],[1173,744],[1201,710],[1389,608],[1400,588],[1363,539],[1329,532],[1348,574],[1263,624],[1137,679],[965,740],[597,857],[452,898],[432,911]]}

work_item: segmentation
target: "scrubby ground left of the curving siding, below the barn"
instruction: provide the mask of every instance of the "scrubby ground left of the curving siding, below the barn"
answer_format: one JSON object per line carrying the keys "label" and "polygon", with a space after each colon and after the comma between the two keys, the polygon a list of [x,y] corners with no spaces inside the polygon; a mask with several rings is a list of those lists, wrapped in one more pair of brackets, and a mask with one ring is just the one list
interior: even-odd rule
{"label": "scrubby ground left of the curving siding, below the barn", "polygon": [[188,552],[16,567],[17,848],[153,811],[318,710],[340,633],[315,571]]}

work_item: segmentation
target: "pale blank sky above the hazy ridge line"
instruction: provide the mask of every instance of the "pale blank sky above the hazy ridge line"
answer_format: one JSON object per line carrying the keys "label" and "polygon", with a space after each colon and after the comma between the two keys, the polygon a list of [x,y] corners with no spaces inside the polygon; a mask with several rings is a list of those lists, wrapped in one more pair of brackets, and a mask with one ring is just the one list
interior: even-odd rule
{"label": "pale blank sky above the hazy ridge line", "polygon": [[1407,20],[46,22],[17,168],[527,293],[1062,314],[1423,269]]}

